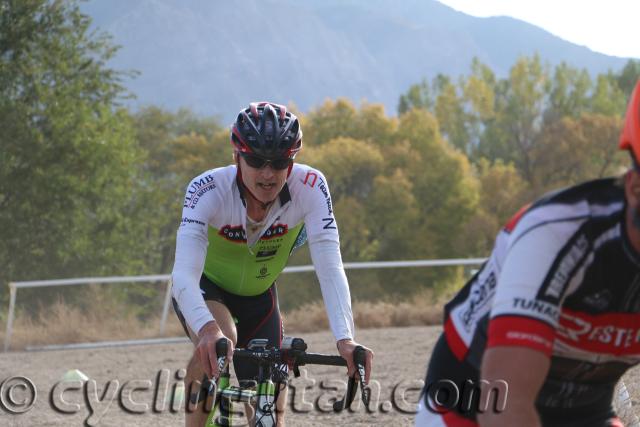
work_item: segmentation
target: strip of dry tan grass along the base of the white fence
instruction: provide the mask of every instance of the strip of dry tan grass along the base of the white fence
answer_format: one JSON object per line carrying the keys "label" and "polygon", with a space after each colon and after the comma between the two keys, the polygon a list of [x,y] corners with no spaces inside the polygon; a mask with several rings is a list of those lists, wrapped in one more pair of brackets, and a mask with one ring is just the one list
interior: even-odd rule
{"label": "strip of dry tan grass along the base of the white fence", "polygon": [[[96,298],[99,298],[96,295]],[[436,325],[442,322],[442,306],[446,298],[434,298],[422,292],[406,301],[356,301],[354,321],[359,329],[392,326]],[[124,312],[108,299],[95,301],[91,310],[65,304],[62,300],[33,316],[18,312],[13,323],[11,349],[23,350],[29,345],[71,344],[160,337],[160,313],[144,320]],[[322,301],[308,303],[283,313],[285,331],[289,334],[329,330]],[[3,325],[5,326],[5,325]],[[6,327],[6,326],[5,326]],[[0,330],[4,342],[5,327]],[[170,311],[163,336],[184,335],[177,317]]]}

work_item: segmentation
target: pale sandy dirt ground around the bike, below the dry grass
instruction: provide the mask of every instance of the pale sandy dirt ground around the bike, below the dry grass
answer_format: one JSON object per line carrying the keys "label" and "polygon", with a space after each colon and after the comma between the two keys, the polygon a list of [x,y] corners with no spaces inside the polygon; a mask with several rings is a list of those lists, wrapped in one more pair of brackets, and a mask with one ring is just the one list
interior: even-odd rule
{"label": "pale sandy dirt ground around the bike, below the dry grass", "polygon": [[[342,394],[346,369],[302,368],[302,377],[292,383],[295,393],[290,395],[288,425],[413,425],[419,387],[423,384],[428,357],[440,330],[439,327],[360,330],[359,341],[375,352],[371,405],[375,409],[368,412],[360,405],[352,412],[332,413],[329,402]],[[330,333],[306,333],[303,337],[309,351],[335,353]],[[172,411],[171,401],[165,401],[162,396],[165,390],[167,395],[171,395],[174,386],[181,383],[180,375],[183,373],[180,370],[185,367],[191,351],[191,345],[185,343],[0,354],[0,381],[24,376],[33,381],[37,390],[35,403],[27,412],[10,414],[0,406],[0,425],[182,425],[184,413]],[[95,389],[91,384],[85,389],[69,389],[63,394],[64,402],[60,402],[55,397],[59,395],[59,389],[54,386],[71,369],[78,369],[95,380]],[[639,379],[638,369],[630,371],[624,378],[633,405],[640,405]],[[5,391],[7,384],[5,381]],[[131,401],[127,401],[128,395],[132,396]],[[51,396],[54,396],[56,406],[71,413],[54,410]],[[13,401],[28,402],[29,398],[27,388],[14,387]],[[73,405],[77,406],[74,408]],[[635,408],[636,413],[638,409]]]}

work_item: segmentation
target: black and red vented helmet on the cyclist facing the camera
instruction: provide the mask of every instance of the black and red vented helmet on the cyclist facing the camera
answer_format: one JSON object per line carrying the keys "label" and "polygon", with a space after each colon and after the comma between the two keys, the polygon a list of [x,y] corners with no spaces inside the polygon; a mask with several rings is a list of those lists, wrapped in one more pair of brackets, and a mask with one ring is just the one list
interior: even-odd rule
{"label": "black and red vented helmet on the cyclist facing the camera", "polygon": [[252,102],[231,126],[231,144],[269,160],[292,159],[302,148],[300,122],[284,105]]}

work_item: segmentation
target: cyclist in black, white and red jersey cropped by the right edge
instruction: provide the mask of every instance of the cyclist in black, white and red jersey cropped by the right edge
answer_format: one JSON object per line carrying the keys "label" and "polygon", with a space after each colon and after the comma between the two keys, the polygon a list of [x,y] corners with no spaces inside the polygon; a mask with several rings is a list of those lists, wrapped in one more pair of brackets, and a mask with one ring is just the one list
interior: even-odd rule
{"label": "cyclist in black, white and red jersey cropped by the right edge", "polygon": [[[499,232],[445,306],[416,426],[622,425],[614,388],[640,361],[640,82],[620,148],[632,159],[622,177],[548,194]],[[490,387],[465,400],[480,379]]]}

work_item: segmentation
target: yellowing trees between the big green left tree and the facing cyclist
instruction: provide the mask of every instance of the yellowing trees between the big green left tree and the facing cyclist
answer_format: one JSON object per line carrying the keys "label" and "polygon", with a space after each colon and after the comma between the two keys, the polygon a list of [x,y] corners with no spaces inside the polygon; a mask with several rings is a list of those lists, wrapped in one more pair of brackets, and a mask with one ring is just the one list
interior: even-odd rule
{"label": "yellowing trees between the big green left tree and the facing cyclist", "polygon": [[133,118],[143,152],[135,203],[150,248],[141,256],[150,271],[169,273],[185,188],[200,173],[232,162],[229,131],[186,109],[147,107]]}

